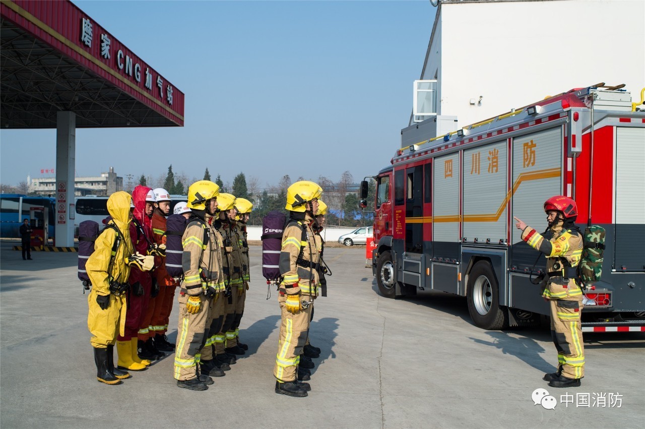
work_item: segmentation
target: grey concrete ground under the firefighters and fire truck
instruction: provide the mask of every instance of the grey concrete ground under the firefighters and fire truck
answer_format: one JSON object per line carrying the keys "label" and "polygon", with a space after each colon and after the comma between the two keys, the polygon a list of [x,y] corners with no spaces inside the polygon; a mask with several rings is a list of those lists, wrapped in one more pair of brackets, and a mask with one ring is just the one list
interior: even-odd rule
{"label": "grey concrete ground under the firefighters and fire truck", "polygon": [[[548,331],[481,330],[471,324],[466,301],[446,294],[385,299],[377,294],[370,268],[364,268],[364,247],[326,252],[333,276],[329,296],[316,302],[311,326],[312,343],[323,352],[314,359],[308,397],[273,392],[279,311],[275,291],[266,299],[257,246],[240,332],[250,350],[225,377],[215,378],[206,392],[179,389],[168,354],[124,384],[108,386],[95,379],[88,295],[76,277],[76,254],[33,252],[34,261],[23,261],[10,245],[0,245],[3,428],[645,424],[645,335],[586,335],[582,386],[550,388],[542,381],[544,372],[554,370]],[[176,308],[171,323],[176,326]],[[168,333],[172,341],[174,326]],[[555,409],[534,404],[537,388],[556,398]],[[566,406],[563,395],[571,395],[573,403]],[[590,406],[581,406],[586,397]],[[606,406],[600,406],[600,397]]]}

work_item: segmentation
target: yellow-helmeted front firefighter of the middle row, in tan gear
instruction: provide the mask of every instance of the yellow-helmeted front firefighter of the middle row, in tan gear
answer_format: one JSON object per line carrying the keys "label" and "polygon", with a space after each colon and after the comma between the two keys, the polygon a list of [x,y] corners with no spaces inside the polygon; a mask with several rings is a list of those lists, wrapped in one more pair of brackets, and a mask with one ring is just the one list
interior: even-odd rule
{"label": "yellow-helmeted front firefighter of the middle row, in tan gear", "polygon": [[200,374],[199,364],[210,306],[213,299],[219,299],[223,279],[221,239],[212,226],[218,194],[219,186],[212,181],[197,181],[188,188],[192,215],[182,237],[184,279],[179,290],[174,377],[177,386],[190,390],[206,390],[213,384],[211,377]]}

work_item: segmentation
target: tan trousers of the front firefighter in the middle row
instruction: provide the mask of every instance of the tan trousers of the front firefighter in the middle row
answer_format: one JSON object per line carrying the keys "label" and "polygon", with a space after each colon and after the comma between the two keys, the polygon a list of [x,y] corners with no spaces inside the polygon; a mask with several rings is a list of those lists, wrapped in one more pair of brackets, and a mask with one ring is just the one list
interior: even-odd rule
{"label": "tan trousers of the front firefighter in the middle row", "polygon": [[175,348],[175,379],[185,381],[197,377],[197,365],[201,360],[200,350],[206,342],[206,323],[210,312],[210,299],[200,295],[201,305],[197,314],[186,310],[188,295],[179,295],[179,323],[177,326],[177,347]]}

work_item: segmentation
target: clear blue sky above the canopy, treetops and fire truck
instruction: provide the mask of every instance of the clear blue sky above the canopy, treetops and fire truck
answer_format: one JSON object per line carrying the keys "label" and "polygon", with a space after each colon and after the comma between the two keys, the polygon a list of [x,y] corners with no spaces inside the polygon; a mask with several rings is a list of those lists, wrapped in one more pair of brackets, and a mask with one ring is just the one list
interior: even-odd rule
{"label": "clear blue sky above the canopy, treetops and fire truck", "polygon": [[[74,3],[186,94],[183,127],[78,129],[77,175],[159,177],[172,163],[261,188],[388,165],[435,15],[425,0]],[[2,183],[55,167],[55,130],[0,139]]]}

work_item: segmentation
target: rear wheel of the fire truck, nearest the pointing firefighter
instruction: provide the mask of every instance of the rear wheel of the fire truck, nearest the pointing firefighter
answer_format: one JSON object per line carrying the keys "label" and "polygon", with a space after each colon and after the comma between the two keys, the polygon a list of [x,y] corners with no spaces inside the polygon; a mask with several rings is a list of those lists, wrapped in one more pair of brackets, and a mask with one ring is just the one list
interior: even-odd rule
{"label": "rear wheel of the fire truck, nearest the pointing firefighter", "polygon": [[499,285],[490,263],[479,261],[468,275],[466,289],[468,312],[482,329],[498,330],[508,326],[506,312],[499,305]]}

